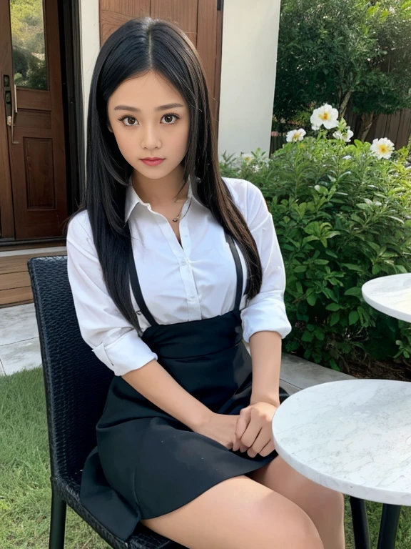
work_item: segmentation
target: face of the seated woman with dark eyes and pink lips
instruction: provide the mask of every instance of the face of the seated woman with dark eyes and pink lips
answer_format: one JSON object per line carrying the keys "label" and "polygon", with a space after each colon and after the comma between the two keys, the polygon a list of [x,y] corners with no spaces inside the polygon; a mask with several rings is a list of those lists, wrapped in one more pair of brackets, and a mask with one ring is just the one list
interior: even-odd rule
{"label": "face of the seated woman with dark eyes and pink lips", "polygon": [[[107,111],[121,154],[143,177],[160,179],[181,164],[188,150],[188,105],[163,76],[149,71],[123,81]],[[149,166],[141,160],[147,157],[165,160]]]}

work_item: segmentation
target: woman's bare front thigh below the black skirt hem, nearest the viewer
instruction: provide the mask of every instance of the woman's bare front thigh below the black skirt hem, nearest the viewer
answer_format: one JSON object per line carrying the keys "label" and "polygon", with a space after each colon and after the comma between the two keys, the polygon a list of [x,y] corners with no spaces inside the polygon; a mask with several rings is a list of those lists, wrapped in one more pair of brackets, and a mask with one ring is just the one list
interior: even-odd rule
{"label": "woman's bare front thigh below the black skirt hem, nearest the viewer", "polygon": [[189,549],[323,549],[312,520],[298,505],[245,475],[141,522]]}

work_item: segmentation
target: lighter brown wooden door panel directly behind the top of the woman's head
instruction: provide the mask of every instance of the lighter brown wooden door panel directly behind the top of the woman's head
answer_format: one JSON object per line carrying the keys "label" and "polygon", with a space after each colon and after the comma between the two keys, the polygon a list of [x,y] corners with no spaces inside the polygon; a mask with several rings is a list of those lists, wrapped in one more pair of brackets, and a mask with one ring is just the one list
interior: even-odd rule
{"label": "lighter brown wooden door panel directly behind the top of the woman's head", "polygon": [[218,124],[223,0],[100,0],[100,41],[133,17],[167,19],[191,39],[200,54]]}

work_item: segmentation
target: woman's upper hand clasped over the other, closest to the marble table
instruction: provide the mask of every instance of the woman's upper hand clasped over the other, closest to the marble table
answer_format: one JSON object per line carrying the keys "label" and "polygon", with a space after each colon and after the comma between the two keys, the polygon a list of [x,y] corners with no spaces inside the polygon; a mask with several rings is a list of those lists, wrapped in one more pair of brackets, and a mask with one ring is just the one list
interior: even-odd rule
{"label": "woman's upper hand clasped over the other, closest to the marble table", "polygon": [[257,454],[265,457],[275,450],[271,422],[277,407],[268,402],[256,402],[243,408],[235,427],[233,452],[245,451],[250,458]]}

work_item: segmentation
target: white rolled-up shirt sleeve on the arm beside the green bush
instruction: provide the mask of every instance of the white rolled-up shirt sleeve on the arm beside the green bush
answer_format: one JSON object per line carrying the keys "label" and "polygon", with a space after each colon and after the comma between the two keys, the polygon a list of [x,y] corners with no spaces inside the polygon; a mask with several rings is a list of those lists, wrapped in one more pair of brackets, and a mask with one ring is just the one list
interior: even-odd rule
{"label": "white rolled-up shirt sleeve on the arm beside the green bush", "polygon": [[241,311],[243,338],[249,342],[255,332],[263,330],[278,332],[284,338],[292,327],[285,312],[285,269],[273,216],[258,187],[249,184],[247,194],[247,223],[260,254],[263,284]]}

